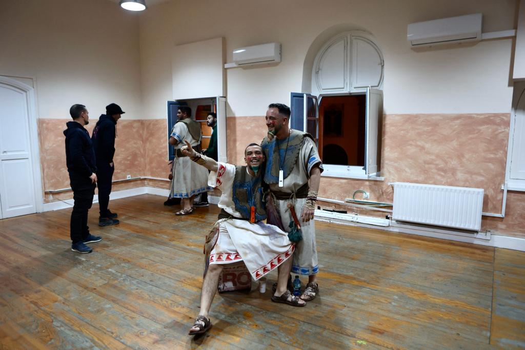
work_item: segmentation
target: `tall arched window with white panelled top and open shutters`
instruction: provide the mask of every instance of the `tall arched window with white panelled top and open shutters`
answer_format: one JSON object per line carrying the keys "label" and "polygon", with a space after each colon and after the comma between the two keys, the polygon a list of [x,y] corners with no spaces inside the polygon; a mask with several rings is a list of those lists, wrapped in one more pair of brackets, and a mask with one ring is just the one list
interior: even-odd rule
{"label": "tall arched window with white panelled top and open shutters", "polygon": [[[311,94],[291,94],[291,126],[313,135],[322,175],[380,176],[384,61],[373,36],[360,30],[333,36],[310,67]],[[333,156],[336,146],[345,157]]]}

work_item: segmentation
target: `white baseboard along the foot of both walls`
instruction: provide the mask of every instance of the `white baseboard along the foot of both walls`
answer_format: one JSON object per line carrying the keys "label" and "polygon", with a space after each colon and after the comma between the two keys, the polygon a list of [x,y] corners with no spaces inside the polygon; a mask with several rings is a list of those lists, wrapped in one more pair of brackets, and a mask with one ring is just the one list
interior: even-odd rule
{"label": "white baseboard along the foot of both walls", "polygon": [[[109,199],[120,199],[132,196],[139,196],[143,194],[151,194],[162,197],[167,197],[170,194],[168,189],[156,188],[156,187],[137,187],[132,189],[124,189],[121,191],[112,192]],[[208,196],[208,201],[211,204],[219,203],[219,197]],[[93,198],[93,203],[98,203],[98,196]],[[64,201],[54,201],[52,203],[45,203],[43,205],[43,211],[50,210],[60,210],[71,208],[73,206],[72,199],[66,199]],[[367,228],[375,228],[379,230],[390,231],[394,233],[418,235],[425,237],[433,237],[440,239],[447,239],[458,242],[467,242],[474,243],[482,246],[497,247],[497,248],[506,248],[513,250],[525,251],[525,239],[491,235],[491,234],[482,234],[476,232],[470,234],[468,232],[457,232],[450,231],[447,229],[437,229],[437,228],[425,228],[415,225],[400,224],[393,221],[392,224],[390,220],[374,218],[369,216],[361,215],[351,215],[351,214],[340,214],[340,213],[331,213],[323,210],[316,210],[316,220],[332,222],[334,224],[340,225],[351,225]]]}

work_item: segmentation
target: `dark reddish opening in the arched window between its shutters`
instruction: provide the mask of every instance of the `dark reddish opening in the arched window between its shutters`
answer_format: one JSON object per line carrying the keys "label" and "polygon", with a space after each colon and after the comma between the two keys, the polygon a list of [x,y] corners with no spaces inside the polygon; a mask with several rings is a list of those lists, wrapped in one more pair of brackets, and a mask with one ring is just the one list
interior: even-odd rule
{"label": "dark reddish opening in the arched window between its shutters", "polygon": [[323,164],[364,166],[366,95],[323,96],[319,152]]}

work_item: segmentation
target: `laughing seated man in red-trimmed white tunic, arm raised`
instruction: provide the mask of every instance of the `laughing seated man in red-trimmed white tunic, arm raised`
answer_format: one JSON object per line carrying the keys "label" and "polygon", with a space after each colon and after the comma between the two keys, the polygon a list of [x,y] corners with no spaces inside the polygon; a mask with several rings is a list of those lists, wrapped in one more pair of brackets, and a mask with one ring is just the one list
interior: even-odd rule
{"label": "laughing seated man in red-trimmed white tunic, arm raised", "polygon": [[277,290],[271,300],[304,306],[304,301],[286,289],[292,263],[290,257],[295,245],[290,242],[286,232],[262,222],[266,219],[266,206],[262,200],[261,172],[265,156],[261,147],[255,143],[246,147],[246,166],[217,163],[194,151],[187,141],[181,152],[209,169],[208,185],[222,191],[218,203],[221,208],[218,221],[206,237],[201,312],[189,334],[202,334],[211,327],[208,312],[217,291],[219,275],[226,263],[244,261],[256,281],[277,268]]}

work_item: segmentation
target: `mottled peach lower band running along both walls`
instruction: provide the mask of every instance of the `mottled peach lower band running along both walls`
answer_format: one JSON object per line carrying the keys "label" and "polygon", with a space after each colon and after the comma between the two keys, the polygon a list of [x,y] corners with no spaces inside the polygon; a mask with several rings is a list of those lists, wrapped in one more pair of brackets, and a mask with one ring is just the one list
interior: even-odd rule
{"label": "mottled peach lower band running along both walls", "polygon": [[[501,184],[505,179],[510,115],[489,114],[387,114],[383,119],[381,175],[384,181],[322,177],[319,196],[344,200],[356,189],[371,194],[371,200],[392,203],[388,182],[484,188],[484,211],[501,213]],[[40,119],[40,154],[44,189],[69,187],[64,150],[68,120]],[[91,132],[96,120],[88,125]],[[266,135],[264,116],[226,119],[228,162],[244,164],[244,147],[260,143]],[[114,179],[151,176],[166,178],[166,120],[120,120],[116,142]],[[169,188],[167,181],[134,181],[116,189],[140,186]],[[361,199],[359,195],[357,198]],[[46,195],[46,201],[71,198],[71,193]],[[333,207],[327,205],[326,207]],[[379,211],[352,210],[384,217]],[[525,193],[509,192],[505,218],[483,217],[482,230],[525,238]]]}

